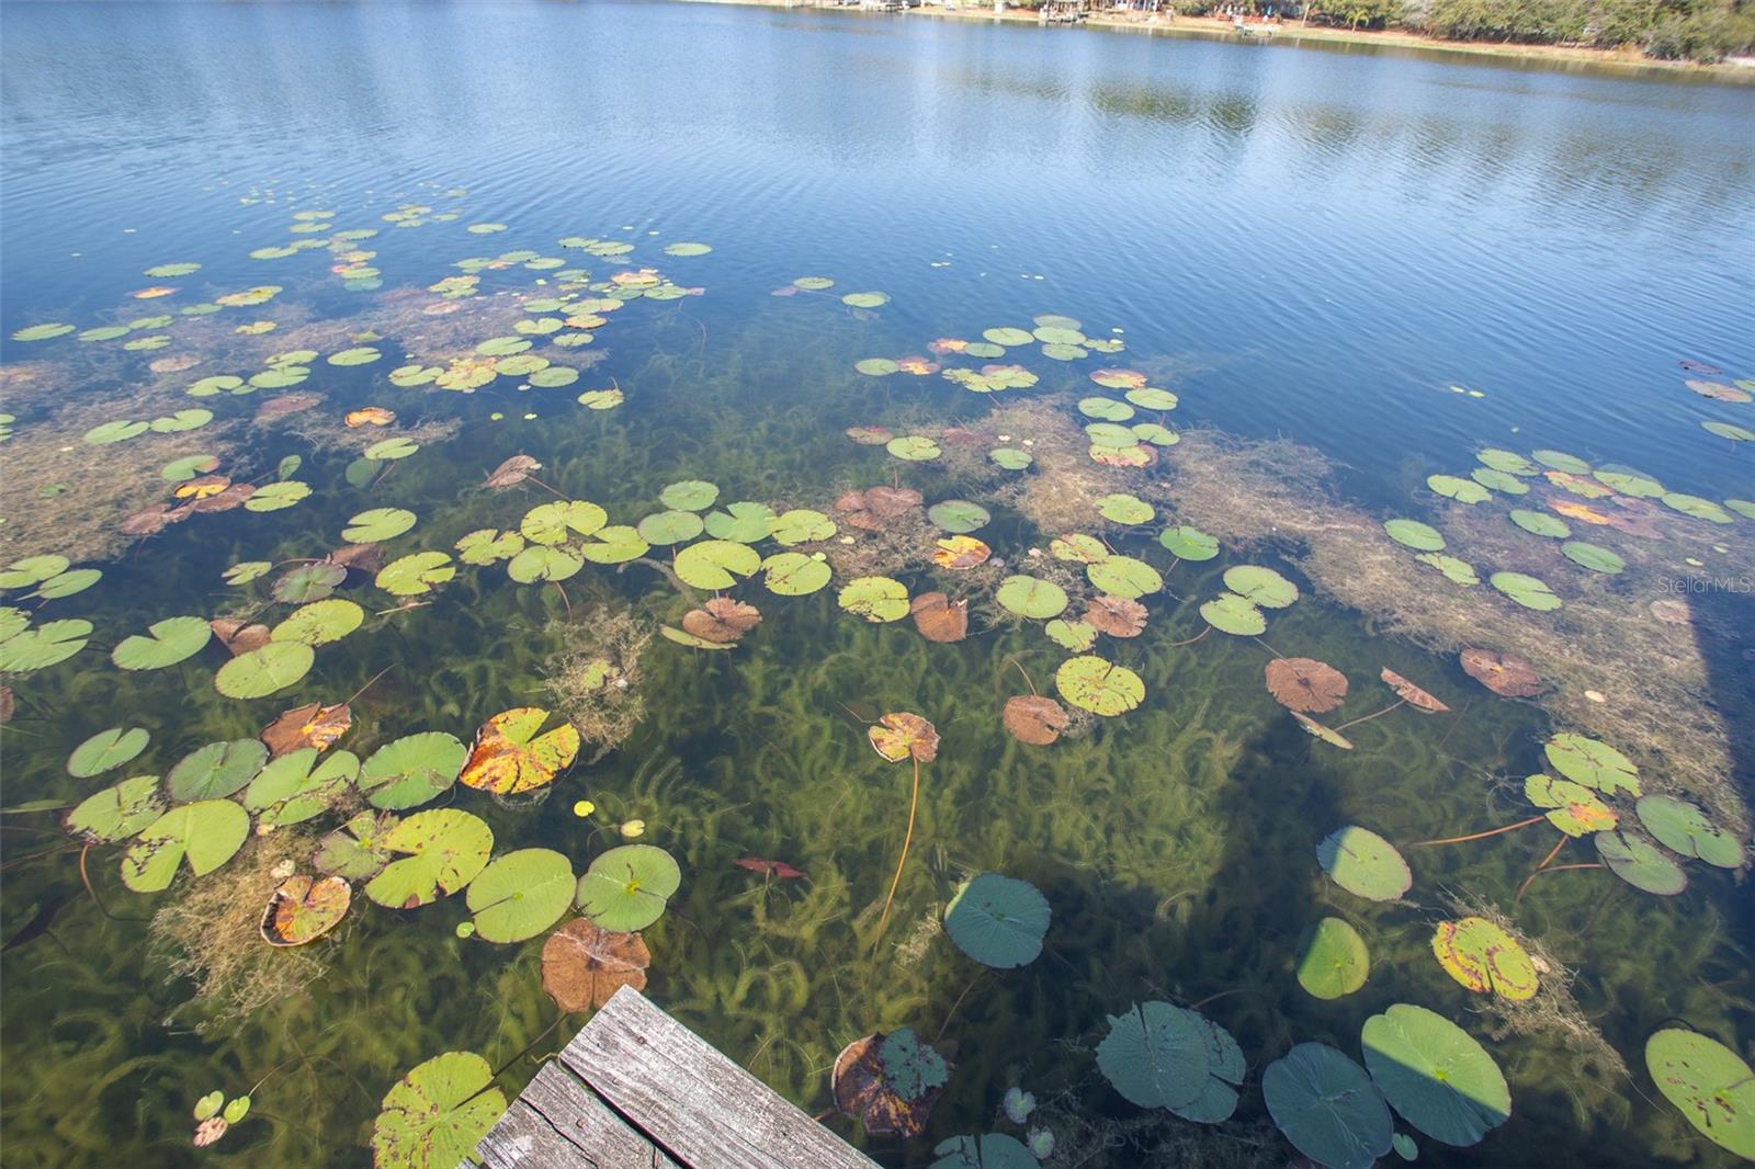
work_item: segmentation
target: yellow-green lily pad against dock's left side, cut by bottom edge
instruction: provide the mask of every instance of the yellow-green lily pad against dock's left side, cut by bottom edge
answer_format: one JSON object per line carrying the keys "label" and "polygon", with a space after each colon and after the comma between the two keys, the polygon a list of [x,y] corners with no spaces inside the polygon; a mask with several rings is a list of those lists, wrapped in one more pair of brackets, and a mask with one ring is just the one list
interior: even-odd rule
{"label": "yellow-green lily pad against dock's left side, cut by bottom edge", "polygon": [[474,1051],[414,1065],[384,1094],[372,1123],[374,1169],[455,1169],[505,1111],[493,1069]]}

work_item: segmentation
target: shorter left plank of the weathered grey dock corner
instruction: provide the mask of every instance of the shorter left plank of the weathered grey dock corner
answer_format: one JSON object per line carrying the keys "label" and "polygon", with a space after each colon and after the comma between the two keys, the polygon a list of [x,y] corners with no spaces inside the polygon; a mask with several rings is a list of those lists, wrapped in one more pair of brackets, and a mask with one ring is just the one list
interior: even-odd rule
{"label": "shorter left plank of the weathered grey dock corner", "polygon": [[488,1169],[681,1169],[556,1064],[537,1072],[476,1155]]}

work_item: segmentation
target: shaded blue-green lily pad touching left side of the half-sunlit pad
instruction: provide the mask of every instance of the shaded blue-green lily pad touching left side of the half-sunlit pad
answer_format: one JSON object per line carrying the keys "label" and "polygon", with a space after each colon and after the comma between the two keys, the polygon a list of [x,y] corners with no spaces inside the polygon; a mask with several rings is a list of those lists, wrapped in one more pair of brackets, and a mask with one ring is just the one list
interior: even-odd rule
{"label": "shaded blue-green lily pad touching left side of the half-sunlit pad", "polygon": [[1267,1113],[1293,1148],[1327,1169],[1371,1169],[1395,1123],[1365,1069],[1325,1043],[1300,1043],[1262,1072]]}

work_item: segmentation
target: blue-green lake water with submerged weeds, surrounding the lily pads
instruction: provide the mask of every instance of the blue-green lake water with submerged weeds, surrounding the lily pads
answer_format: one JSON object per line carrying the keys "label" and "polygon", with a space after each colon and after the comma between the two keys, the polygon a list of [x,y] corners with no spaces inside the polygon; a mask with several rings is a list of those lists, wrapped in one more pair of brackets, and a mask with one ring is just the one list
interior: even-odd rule
{"label": "blue-green lake water with submerged weeds, surrounding the lily pads", "polygon": [[[26,565],[0,597],[21,614],[0,641],[18,667],[0,732],[9,1165],[362,1164],[384,1094],[444,1051],[505,1065],[495,1083],[514,1095],[586,1018],[549,1030],[542,948],[558,907],[535,937],[495,944],[491,923],[458,932],[467,892],[390,909],[362,878],[340,927],[309,946],[254,934],[274,865],[312,872],[316,837],[369,788],[342,785],[302,825],[263,832],[258,816],[226,867],[184,867],[167,892],[125,888],[139,846],[81,851],[58,816],[362,686],[332,751],[367,758],[421,732],[469,744],[500,711],[560,709],[544,678],[567,655],[628,681],[609,693],[593,679],[583,699],[576,685],[572,707],[628,714],[637,699],[628,735],[600,753],[588,734],[534,793],[446,786],[430,807],[479,816],[493,857],[555,850],[572,874],[642,821],[639,843],[681,867],[644,930],[648,993],[813,1115],[834,1111],[830,1071],[855,1039],[911,1027],[935,1043],[951,1069],[923,1136],[828,1120],[883,1164],[1032,1129],[1053,1132],[1051,1165],[1286,1164],[1265,1069],[1299,1043],[1358,1060],[1360,1029],[1399,1002],[1460,1025],[1509,1087],[1509,1120],[1469,1148],[1432,1139],[1430,1116],[1392,1092],[1422,1160],[1736,1162],[1662,1099],[1644,1044],[1660,1029],[1744,1058],[1755,1044],[1741,872],[1648,844],[1662,830],[1637,792],[1601,767],[1550,765],[1544,744],[1574,732],[1620,748],[1648,795],[1702,806],[1720,848],[1748,839],[1755,404],[1736,383],[1755,377],[1755,90],[683,4],[7,4],[0,35],[0,409],[14,416],[0,565],[65,555],[102,570],[44,599]],[[697,240],[711,251],[667,251]],[[263,286],[276,291],[237,295]],[[985,339],[1020,326],[1049,332]],[[498,362],[534,342],[539,360],[469,384],[455,362],[481,342]],[[885,372],[907,356],[920,363]],[[988,362],[1030,384],[971,393],[942,376]],[[1141,395],[1146,383],[1179,402]],[[621,398],[581,402],[590,391]],[[367,405],[395,420],[344,425]],[[916,446],[937,456],[895,456],[907,446],[860,444],[849,427],[930,439]],[[363,455],[395,435],[418,449]],[[997,448],[1032,463],[1004,467]],[[140,520],[177,502],[202,455],[226,479],[311,491]],[[319,632],[309,672],[263,697],[216,690],[239,676],[218,641],[161,669],[111,663],[163,618],[277,625],[323,592],[270,592],[298,570],[284,562],[332,553],[367,509],[416,516],[383,537],[384,562],[519,530],[555,497],[479,486],[512,455],[609,525],[672,514],[591,556],[604,563],[572,556],[563,584],[516,583],[504,558],[402,592],[383,588],[397,574],[355,567],[335,595],[363,607],[360,628]],[[1471,470],[1481,486],[1458,488]],[[688,481],[718,498],[665,493]],[[979,514],[844,498],[872,486],[972,500],[986,521],[969,534],[992,558],[932,563],[935,541]],[[1457,491],[1485,498],[1443,497]],[[1099,513],[1107,495],[1127,498]],[[779,542],[760,516],[753,532],[723,511],[707,527],[762,556],[820,555],[834,579],[781,595],[756,572],[723,590],[762,609],[730,651],[653,635],[718,592],[713,565],[686,555],[677,570],[695,583],[672,579],[669,553],[700,535],[674,513],[732,500],[821,513],[783,523]],[[1400,546],[1378,527],[1388,518],[1436,530],[1402,530]],[[602,544],[600,523],[555,537]],[[1160,542],[1178,525],[1211,532],[1218,555]],[[1102,542],[1051,544],[1072,532]],[[1418,562],[1432,539],[1479,581]],[[276,567],[223,577],[253,562]],[[1239,565],[1283,576],[1221,577]],[[1495,590],[1495,572],[1537,577],[1562,604],[1509,579]],[[1067,611],[1042,600],[1053,588],[1020,604],[1002,588],[1013,574],[1069,592]],[[862,576],[967,599],[969,637],[927,641],[881,604],[872,616],[899,620],[846,611]],[[1272,607],[1283,579],[1297,602]],[[1251,588],[1260,611],[1213,611],[1206,635],[1202,606]],[[1076,623],[1095,597],[1130,593],[1144,614],[1120,604],[1099,620],[1127,634],[1144,616],[1137,635],[1088,649],[1071,648],[1083,627],[1048,635],[1044,618]],[[353,611],[321,613],[347,625]],[[1260,637],[1225,630],[1257,618]],[[42,665],[35,644],[7,649],[56,620],[90,621],[68,634],[90,644]],[[635,653],[605,641],[614,630],[651,639]],[[1495,697],[1458,667],[1469,644],[1530,658],[1544,688]],[[1395,702],[1385,667],[1448,709],[1390,711],[1341,749],[1264,688],[1279,655],[1346,674],[1344,707],[1311,707],[1329,727]],[[1127,679],[1079,692],[1064,663],[1081,656],[1130,671],[1144,697]],[[1000,713],[1032,692],[1137,709],[1078,714],[1028,746]],[[893,711],[939,735],[914,816],[914,767],[867,744],[867,723]],[[111,727],[149,744],[70,776],[68,753]],[[1523,778],[1544,767],[1588,776],[1592,814],[1613,820],[1585,820],[1618,821],[1657,855],[1636,876],[1687,888],[1655,895],[1592,867],[1520,890],[1571,841],[1546,823],[1415,848],[1537,814]],[[172,778],[170,795],[249,799],[221,786]],[[1318,843],[1343,825],[1399,846],[1400,899],[1325,876]],[[1580,834],[1550,867],[1595,865]],[[751,857],[806,876],[735,864]],[[1041,957],[1020,969],[985,967],[939,927],[981,872],[1028,881],[1051,909]],[[230,904],[232,888],[254,900]],[[1471,913],[1537,948],[1534,999],[1471,993],[1434,960],[1434,930]],[[1337,999],[1297,976],[1323,918],[1371,953],[1369,979]],[[172,965],[190,946],[207,950],[207,993]],[[1146,1000],[1199,1006],[1236,1036],[1246,1072],[1223,1123],[1139,1108],[1099,1065],[1111,1016],[1125,1030]],[[247,1118],[195,1150],[195,1102],[258,1081]],[[1002,1111],[1013,1087],[1039,1102],[1021,1123]],[[1748,1125],[1741,1092],[1734,1123]],[[1741,1134],[1732,1148],[1755,1141]]]}

